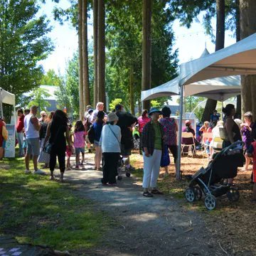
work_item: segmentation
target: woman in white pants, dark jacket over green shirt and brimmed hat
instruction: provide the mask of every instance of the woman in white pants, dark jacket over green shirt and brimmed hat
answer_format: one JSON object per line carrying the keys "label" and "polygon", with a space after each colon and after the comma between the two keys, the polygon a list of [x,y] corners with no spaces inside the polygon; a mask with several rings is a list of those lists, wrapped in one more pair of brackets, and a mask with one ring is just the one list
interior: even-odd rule
{"label": "woman in white pants, dark jacket over green shirt and brimmed hat", "polygon": [[[162,194],[156,188],[157,178],[161,162],[161,154],[164,149],[164,128],[158,122],[161,111],[152,107],[149,111],[151,121],[148,122],[142,131],[142,150],[144,159],[143,174],[143,196],[152,197],[153,194]],[[149,192],[151,188],[151,193]]]}

